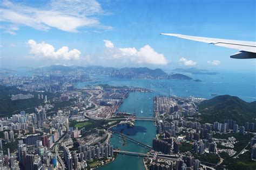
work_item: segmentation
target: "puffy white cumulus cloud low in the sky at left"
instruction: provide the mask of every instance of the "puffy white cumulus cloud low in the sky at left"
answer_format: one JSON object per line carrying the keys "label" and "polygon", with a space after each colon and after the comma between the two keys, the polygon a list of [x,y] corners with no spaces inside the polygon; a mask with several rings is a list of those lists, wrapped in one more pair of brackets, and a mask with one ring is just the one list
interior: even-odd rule
{"label": "puffy white cumulus cloud low in the sky at left", "polygon": [[78,49],[72,49],[69,51],[69,47],[63,46],[55,52],[55,48],[46,44],[45,42],[37,43],[35,40],[28,40],[26,45],[30,47],[30,54],[35,55],[37,58],[48,58],[56,60],[78,60],[80,58],[80,51]]}

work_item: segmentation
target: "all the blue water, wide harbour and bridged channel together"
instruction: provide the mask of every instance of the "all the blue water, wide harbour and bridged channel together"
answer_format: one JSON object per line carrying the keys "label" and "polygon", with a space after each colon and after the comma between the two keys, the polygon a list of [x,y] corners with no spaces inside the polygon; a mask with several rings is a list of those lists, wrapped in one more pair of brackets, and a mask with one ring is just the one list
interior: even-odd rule
{"label": "all the blue water, wide harbour and bridged channel together", "polygon": [[[251,76],[239,74],[237,76],[243,77],[244,85],[247,88],[241,88],[239,83],[235,84],[236,76],[233,74],[217,74],[217,75],[196,75],[194,79],[201,79],[202,82],[194,82],[187,80],[148,80],[148,79],[111,79],[103,78],[80,82],[77,84],[78,88],[83,88],[87,84],[110,84],[111,86],[130,86],[151,88],[152,93],[130,93],[129,97],[124,100],[118,111],[126,111],[133,113],[136,111],[137,116],[153,117],[153,97],[157,95],[169,95],[169,88],[171,95],[178,95],[189,97],[194,95],[203,98],[212,98],[211,93],[230,94],[243,98],[245,101],[255,100],[255,86],[254,79]],[[224,79],[228,77],[228,79]],[[225,88],[228,86],[229,88]],[[184,88],[186,87],[186,88]],[[238,89],[239,90],[236,90]],[[253,90],[254,89],[254,90]],[[225,92],[226,91],[226,92]],[[254,94],[251,92],[254,91]],[[239,93],[239,94],[238,94]],[[126,125],[118,125],[113,128],[118,132],[124,134],[152,146],[152,139],[156,136],[156,127],[153,122],[136,121],[133,128],[127,128]],[[141,152],[145,153],[148,150],[142,146],[126,141],[123,145],[123,139],[113,134],[110,140],[114,147],[121,148],[123,151]],[[120,168],[123,167],[123,168]],[[143,165],[143,158],[131,155],[118,155],[116,160],[110,164],[99,167],[98,169],[145,169]]]}

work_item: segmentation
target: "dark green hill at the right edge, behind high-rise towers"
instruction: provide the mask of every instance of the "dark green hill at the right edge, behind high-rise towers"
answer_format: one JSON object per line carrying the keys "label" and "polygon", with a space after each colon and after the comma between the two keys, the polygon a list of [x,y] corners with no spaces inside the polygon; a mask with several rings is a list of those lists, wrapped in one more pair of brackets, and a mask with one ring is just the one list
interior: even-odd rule
{"label": "dark green hill at the right edge, behind high-rise towers", "polygon": [[254,122],[256,118],[256,102],[248,103],[239,97],[230,95],[216,96],[199,104],[201,122],[223,122],[233,119],[239,125]]}

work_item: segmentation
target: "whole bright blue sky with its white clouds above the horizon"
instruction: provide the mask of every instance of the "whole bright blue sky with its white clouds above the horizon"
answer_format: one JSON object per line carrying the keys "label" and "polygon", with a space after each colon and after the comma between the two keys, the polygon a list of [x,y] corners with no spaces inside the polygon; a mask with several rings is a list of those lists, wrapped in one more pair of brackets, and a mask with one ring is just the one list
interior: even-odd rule
{"label": "whole bright blue sky with its white clouds above the horizon", "polygon": [[230,58],[237,50],[159,35],[256,41],[255,6],[253,0],[1,1],[0,66],[59,63],[255,72],[255,59]]}

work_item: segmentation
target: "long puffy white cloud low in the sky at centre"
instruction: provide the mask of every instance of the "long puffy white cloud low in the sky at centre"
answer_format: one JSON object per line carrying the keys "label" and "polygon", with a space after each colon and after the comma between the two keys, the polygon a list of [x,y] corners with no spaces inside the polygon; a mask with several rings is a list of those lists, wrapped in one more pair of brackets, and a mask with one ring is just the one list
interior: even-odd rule
{"label": "long puffy white cloud low in the sky at centre", "polygon": [[114,48],[114,45],[110,40],[103,41],[105,42],[105,47],[108,49],[107,52],[110,59],[150,65],[166,65],[169,63],[164,54],[157,53],[149,45],[145,45],[137,50],[134,47]]}

